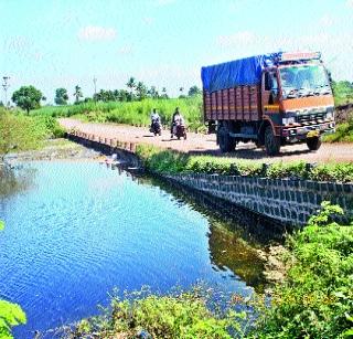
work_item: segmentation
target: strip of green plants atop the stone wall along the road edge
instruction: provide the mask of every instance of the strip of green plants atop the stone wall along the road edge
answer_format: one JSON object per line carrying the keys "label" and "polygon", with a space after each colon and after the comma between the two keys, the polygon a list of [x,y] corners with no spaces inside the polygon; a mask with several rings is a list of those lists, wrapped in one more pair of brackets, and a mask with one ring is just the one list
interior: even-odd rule
{"label": "strip of green plants atop the stone wall along the road edge", "polygon": [[137,155],[148,170],[160,173],[217,173],[270,179],[297,178],[317,181],[353,182],[353,163],[308,166],[303,161],[264,165],[212,156],[191,156],[154,146],[138,145]]}

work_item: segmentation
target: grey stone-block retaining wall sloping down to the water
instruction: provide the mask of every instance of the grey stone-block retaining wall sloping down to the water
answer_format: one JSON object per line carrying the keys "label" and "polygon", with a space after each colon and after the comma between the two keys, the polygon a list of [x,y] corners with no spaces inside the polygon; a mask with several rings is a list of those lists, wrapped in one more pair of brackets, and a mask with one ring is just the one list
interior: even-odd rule
{"label": "grey stone-block retaining wall sloping down to the water", "polygon": [[306,224],[324,200],[340,204],[353,216],[353,184],[204,173],[167,177],[291,225]]}

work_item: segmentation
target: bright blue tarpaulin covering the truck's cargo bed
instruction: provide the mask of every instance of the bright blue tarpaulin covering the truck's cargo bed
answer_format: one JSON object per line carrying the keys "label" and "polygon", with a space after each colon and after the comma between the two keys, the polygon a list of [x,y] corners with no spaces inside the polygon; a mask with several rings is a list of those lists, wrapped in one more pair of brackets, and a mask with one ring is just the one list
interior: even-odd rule
{"label": "bright blue tarpaulin covering the truck's cargo bed", "polygon": [[242,85],[260,83],[263,70],[274,64],[277,54],[235,60],[201,68],[203,88],[214,92]]}

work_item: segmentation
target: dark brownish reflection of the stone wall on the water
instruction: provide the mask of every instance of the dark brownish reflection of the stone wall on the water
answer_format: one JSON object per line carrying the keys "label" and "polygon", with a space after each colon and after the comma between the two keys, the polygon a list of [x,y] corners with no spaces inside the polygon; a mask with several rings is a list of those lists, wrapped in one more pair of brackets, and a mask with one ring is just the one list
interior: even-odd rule
{"label": "dark brownish reflection of the stone wall on the water", "polygon": [[[115,167],[113,167],[115,168]],[[117,167],[119,171],[120,168]],[[203,192],[190,190],[179,183],[165,182],[141,173],[129,173],[142,184],[160,187],[173,194],[180,204],[185,202],[207,218],[210,223],[210,258],[216,271],[231,269],[247,285],[263,292],[265,288],[264,263],[257,254],[270,243],[281,243],[286,231],[280,222],[246,211],[227,201]]]}

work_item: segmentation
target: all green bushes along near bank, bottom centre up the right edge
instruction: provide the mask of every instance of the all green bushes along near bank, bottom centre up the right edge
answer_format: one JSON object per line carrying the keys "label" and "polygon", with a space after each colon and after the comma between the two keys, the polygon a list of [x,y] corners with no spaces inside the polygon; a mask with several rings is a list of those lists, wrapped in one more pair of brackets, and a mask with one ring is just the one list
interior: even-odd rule
{"label": "all green bushes along near bank, bottom centre up the right edge", "polygon": [[65,338],[352,338],[353,224],[322,203],[286,241],[284,282],[271,296],[215,297],[212,288],[113,297],[101,316],[82,320]]}

